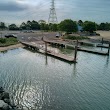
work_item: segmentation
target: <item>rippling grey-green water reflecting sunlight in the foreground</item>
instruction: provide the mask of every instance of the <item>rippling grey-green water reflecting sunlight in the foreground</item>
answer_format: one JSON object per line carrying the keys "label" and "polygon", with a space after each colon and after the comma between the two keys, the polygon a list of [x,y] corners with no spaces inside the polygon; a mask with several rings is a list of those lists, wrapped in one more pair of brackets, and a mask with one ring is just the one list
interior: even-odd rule
{"label": "rippling grey-green water reflecting sunlight in the foreground", "polygon": [[110,110],[110,59],[78,52],[78,63],[69,64],[9,50],[0,53],[0,86],[26,110]]}

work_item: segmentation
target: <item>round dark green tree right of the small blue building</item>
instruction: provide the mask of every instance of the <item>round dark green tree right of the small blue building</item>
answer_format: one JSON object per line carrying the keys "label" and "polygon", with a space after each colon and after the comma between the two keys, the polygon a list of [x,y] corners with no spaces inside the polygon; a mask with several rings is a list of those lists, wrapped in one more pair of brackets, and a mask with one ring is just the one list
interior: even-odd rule
{"label": "round dark green tree right of the small blue building", "polygon": [[90,33],[93,33],[96,31],[96,23],[91,21],[85,21],[83,24],[84,31],[89,31]]}

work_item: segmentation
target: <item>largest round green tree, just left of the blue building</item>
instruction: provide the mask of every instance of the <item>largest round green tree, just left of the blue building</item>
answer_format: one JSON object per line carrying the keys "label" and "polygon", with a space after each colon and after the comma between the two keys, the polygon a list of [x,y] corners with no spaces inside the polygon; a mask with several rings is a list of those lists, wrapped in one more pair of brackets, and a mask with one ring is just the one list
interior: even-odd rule
{"label": "largest round green tree, just left of the blue building", "polygon": [[76,22],[72,21],[71,19],[66,19],[64,21],[61,21],[58,27],[60,31],[65,31],[67,33],[78,31]]}

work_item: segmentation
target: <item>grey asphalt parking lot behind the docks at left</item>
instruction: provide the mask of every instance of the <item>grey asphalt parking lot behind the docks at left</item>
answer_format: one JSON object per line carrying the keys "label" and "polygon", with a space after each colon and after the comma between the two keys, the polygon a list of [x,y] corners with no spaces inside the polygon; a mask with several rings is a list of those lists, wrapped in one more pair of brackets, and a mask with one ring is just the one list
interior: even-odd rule
{"label": "grey asphalt parking lot behind the docks at left", "polygon": [[58,32],[41,32],[41,31],[33,31],[33,32],[22,32],[22,31],[0,31],[0,38],[4,38],[5,35],[15,34],[17,35],[18,40],[20,41],[36,41],[41,40],[43,38],[56,38],[56,34]]}

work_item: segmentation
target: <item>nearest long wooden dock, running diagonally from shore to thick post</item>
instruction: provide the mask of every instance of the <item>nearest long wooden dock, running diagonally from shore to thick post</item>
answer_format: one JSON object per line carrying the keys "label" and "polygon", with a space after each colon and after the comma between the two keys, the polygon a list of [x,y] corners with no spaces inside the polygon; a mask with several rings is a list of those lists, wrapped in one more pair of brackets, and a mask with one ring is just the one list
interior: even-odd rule
{"label": "nearest long wooden dock, running diagonally from shore to thick post", "polygon": [[[37,51],[37,52],[56,57],[58,59],[61,59],[61,60],[64,60],[64,61],[67,61],[67,62],[70,62],[70,63],[76,63],[76,60],[74,60],[74,58],[69,57],[67,55],[64,55],[64,54],[61,54],[61,53],[55,53],[55,52],[50,51],[50,50],[45,51],[46,50],[45,47],[40,47],[38,45],[34,45],[34,44],[29,43],[29,42],[22,42],[22,44],[25,45],[28,48],[31,48],[32,50]],[[40,50],[43,50],[43,52],[41,52]]]}

